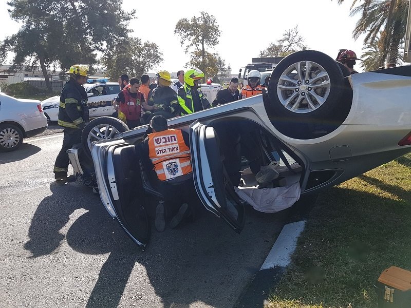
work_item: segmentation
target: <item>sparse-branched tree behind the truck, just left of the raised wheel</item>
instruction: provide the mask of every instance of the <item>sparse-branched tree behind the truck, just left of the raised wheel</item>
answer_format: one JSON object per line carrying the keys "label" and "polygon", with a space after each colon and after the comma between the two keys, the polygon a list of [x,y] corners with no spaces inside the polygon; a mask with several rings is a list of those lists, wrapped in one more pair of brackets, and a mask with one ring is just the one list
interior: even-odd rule
{"label": "sparse-branched tree behind the truck, just left of the raised wheel", "polygon": [[271,43],[266,49],[260,50],[259,57],[287,56],[298,50],[305,50],[304,38],[298,34],[298,25],[283,33],[283,37]]}

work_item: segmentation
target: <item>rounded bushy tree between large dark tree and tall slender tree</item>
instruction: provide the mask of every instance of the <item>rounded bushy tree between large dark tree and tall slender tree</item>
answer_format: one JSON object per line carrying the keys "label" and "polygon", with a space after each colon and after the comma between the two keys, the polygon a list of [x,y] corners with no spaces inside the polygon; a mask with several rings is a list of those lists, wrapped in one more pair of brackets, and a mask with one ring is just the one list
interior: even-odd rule
{"label": "rounded bushy tree between large dark tree and tall slender tree", "polygon": [[117,80],[121,74],[130,77],[140,76],[153,69],[163,61],[159,46],[144,42],[140,38],[129,38],[102,57],[102,63],[107,68],[107,75]]}

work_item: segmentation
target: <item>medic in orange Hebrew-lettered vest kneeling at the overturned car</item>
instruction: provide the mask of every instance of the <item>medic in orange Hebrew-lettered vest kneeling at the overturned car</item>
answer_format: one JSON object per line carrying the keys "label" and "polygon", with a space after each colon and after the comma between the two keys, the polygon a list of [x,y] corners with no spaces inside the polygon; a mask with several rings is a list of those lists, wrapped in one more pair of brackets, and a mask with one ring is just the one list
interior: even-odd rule
{"label": "medic in orange Hebrew-lettered vest kneeling at the overturned car", "polygon": [[[170,228],[194,214],[197,195],[194,189],[188,133],[171,129],[162,115],[155,115],[147,128],[147,137],[141,145],[141,160],[145,170],[152,172],[154,186],[164,197],[156,208],[155,226],[163,232],[165,222],[172,215]],[[183,203],[184,202],[184,203]],[[191,207],[189,208],[189,202]]]}

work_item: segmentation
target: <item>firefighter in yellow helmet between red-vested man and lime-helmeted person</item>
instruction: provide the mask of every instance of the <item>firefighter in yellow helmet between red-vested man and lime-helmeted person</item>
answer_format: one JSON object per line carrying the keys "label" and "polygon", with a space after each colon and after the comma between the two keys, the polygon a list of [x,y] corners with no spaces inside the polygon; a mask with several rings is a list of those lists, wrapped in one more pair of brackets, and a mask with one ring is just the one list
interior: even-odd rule
{"label": "firefighter in yellow helmet between red-vested man and lime-helmeted person", "polygon": [[[157,74],[158,87],[153,90],[153,95],[148,100],[148,110],[144,107],[144,121],[149,121],[152,114],[156,114],[159,111],[165,111],[172,114],[176,114],[179,110],[177,93],[170,87],[171,75],[166,70],[160,70]],[[165,115],[163,113],[163,115]],[[169,116],[171,118],[171,115]]]}

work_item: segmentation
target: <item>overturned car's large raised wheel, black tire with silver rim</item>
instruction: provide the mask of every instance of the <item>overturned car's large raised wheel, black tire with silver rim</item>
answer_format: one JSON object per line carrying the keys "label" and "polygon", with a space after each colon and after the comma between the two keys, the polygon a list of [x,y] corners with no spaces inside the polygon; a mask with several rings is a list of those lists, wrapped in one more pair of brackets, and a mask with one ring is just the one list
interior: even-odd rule
{"label": "overturned car's large raised wheel, black tire with silver rim", "polygon": [[329,131],[321,123],[338,117],[344,87],[343,72],[331,57],[315,50],[294,52],[279,62],[270,76],[271,122],[291,138],[324,136]]}

